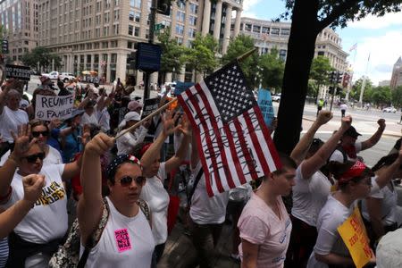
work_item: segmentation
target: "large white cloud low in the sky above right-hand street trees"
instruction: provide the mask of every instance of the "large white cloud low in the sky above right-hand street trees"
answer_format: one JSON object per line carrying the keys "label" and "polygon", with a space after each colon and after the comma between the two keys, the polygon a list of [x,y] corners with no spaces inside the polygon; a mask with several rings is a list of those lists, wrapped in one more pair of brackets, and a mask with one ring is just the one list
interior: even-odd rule
{"label": "large white cloud low in the sky above right-hand street trees", "polygon": [[[392,67],[402,55],[402,31],[389,30],[380,36],[363,38],[357,44],[356,58],[352,52],[348,61],[355,71],[354,80],[367,75],[374,85],[381,80],[390,80]],[[370,61],[368,57],[370,54]]]}

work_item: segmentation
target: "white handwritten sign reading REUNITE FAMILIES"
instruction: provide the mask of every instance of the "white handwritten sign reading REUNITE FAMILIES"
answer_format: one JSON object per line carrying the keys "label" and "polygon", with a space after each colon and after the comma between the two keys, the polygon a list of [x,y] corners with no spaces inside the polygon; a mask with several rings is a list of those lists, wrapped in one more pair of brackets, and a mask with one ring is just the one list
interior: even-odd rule
{"label": "white handwritten sign reading REUNITE FAMILIES", "polygon": [[50,121],[54,118],[60,120],[71,118],[74,95],[43,96],[37,95],[35,102],[35,118]]}

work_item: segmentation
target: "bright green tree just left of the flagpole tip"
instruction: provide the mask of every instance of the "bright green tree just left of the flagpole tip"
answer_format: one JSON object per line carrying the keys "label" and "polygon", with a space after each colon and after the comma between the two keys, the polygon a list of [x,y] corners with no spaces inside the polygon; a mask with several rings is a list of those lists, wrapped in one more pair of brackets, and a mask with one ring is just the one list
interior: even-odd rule
{"label": "bright green tree just left of the flagpole tip", "polygon": [[218,66],[215,54],[218,49],[218,42],[210,34],[205,37],[197,34],[192,47],[186,52],[186,62],[203,77],[213,72]]}

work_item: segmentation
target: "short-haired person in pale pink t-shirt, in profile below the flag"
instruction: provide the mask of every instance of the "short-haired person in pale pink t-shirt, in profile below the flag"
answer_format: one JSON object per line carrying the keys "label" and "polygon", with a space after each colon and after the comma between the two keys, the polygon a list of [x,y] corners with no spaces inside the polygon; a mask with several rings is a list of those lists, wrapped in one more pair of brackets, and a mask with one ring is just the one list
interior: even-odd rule
{"label": "short-haired person in pale pink t-shirt, in profile below the flag", "polygon": [[280,157],[281,169],[263,178],[240,215],[242,267],[283,267],[292,223],[282,197],[295,186],[297,165],[287,155]]}

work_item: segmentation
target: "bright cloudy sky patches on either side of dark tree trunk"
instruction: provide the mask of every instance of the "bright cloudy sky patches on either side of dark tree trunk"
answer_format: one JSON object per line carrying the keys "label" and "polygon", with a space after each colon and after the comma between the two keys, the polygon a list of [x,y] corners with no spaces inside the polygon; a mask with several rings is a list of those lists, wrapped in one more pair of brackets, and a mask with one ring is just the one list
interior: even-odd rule
{"label": "bright cloudy sky patches on either side of dark tree trunk", "polygon": [[[271,21],[284,11],[283,0],[244,0],[242,17]],[[374,85],[381,80],[390,80],[392,67],[402,56],[402,13],[388,13],[380,18],[367,16],[361,21],[349,22],[344,29],[335,30],[342,39],[343,50],[349,54],[353,80],[363,75]],[[355,44],[356,50],[349,52]]]}

